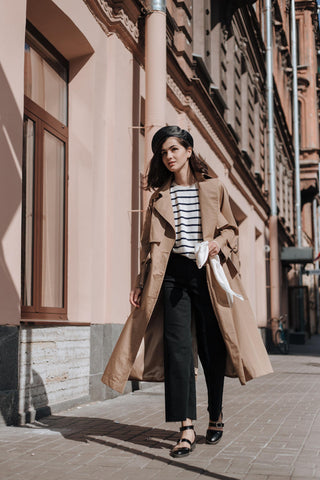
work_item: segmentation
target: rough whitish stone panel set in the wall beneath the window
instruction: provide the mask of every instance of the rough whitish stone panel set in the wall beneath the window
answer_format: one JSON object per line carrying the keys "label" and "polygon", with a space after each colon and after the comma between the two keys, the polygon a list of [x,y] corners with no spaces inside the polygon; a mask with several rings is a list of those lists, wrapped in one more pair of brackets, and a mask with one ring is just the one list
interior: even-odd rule
{"label": "rough whitish stone panel set in the wall beneath the window", "polygon": [[20,327],[19,423],[90,400],[90,327]]}

